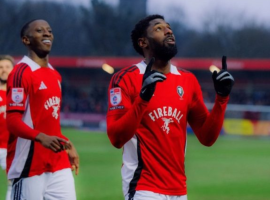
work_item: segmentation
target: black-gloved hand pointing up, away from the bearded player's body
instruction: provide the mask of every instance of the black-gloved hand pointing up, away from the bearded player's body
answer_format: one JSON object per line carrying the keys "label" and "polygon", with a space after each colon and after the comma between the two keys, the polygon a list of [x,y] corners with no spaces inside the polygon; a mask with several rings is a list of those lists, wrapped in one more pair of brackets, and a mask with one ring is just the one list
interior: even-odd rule
{"label": "black-gloved hand pointing up, away from the bearded player's body", "polygon": [[212,79],[218,95],[226,97],[230,94],[234,85],[234,78],[227,71],[226,56],[222,57],[222,70],[219,72],[214,71],[212,74]]}

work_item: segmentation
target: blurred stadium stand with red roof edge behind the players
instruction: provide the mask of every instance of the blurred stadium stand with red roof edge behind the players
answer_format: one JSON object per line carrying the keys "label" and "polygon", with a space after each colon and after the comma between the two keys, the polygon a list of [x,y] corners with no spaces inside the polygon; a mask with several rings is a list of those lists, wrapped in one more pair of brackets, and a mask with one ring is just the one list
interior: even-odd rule
{"label": "blurred stadium stand with red roof edge behind the players", "polygon": [[[103,129],[106,128],[107,88],[112,75],[102,70],[102,64],[107,63],[118,71],[140,62],[140,58],[111,57],[52,57],[50,60],[63,79],[62,123]],[[215,90],[208,69],[210,65],[220,67],[220,59],[174,59],[172,63],[196,75],[205,103],[211,109]],[[226,118],[269,122],[270,60],[228,59],[228,69],[235,78],[235,85]]]}

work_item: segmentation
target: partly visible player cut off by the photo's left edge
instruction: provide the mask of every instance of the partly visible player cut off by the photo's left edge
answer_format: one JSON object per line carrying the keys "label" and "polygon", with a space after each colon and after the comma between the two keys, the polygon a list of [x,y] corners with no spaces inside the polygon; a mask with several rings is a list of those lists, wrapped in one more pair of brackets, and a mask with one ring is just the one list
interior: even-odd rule
{"label": "partly visible player cut off by the photo's left edge", "polygon": [[[7,78],[13,69],[14,60],[11,56],[0,56],[0,166],[6,170],[7,143],[9,133],[6,125],[6,90]],[[11,182],[8,181],[6,200],[10,200]]]}

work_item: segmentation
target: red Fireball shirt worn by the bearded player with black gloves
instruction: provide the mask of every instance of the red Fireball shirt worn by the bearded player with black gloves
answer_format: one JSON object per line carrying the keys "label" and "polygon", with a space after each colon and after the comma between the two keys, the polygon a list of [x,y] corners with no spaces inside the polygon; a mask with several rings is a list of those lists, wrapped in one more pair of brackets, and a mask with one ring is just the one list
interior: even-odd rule
{"label": "red Fireball shirt worn by the bearded player with black gloves", "polygon": [[171,65],[151,100],[143,101],[139,93],[145,68],[141,62],[121,70],[109,87],[107,132],[114,146],[123,146],[124,195],[136,190],[185,195],[187,123],[201,143],[212,145],[229,98],[217,96],[209,113],[195,76]]}

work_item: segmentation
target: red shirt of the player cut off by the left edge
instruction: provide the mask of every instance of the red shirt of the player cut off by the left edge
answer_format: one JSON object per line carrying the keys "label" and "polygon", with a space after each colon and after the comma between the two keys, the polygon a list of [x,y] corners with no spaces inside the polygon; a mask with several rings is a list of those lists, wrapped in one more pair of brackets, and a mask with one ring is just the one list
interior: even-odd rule
{"label": "red shirt of the player cut off by the left edge", "polygon": [[6,124],[6,91],[0,90],[0,148],[6,149],[8,130]]}

